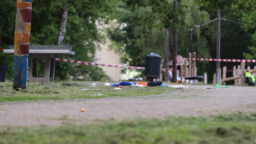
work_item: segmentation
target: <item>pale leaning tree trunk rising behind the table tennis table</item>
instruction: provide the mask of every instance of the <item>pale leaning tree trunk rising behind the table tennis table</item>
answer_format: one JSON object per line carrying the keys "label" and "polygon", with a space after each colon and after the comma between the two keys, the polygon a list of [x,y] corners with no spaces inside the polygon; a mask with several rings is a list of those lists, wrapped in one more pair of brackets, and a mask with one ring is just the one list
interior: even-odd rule
{"label": "pale leaning tree trunk rising behind the table tennis table", "polygon": [[66,23],[68,19],[68,5],[63,4],[63,9],[61,12],[61,18],[60,18],[60,29],[59,29],[59,34],[58,34],[58,39],[56,42],[56,45],[62,45],[63,40],[64,40],[64,35],[65,35],[65,29],[66,29]]}

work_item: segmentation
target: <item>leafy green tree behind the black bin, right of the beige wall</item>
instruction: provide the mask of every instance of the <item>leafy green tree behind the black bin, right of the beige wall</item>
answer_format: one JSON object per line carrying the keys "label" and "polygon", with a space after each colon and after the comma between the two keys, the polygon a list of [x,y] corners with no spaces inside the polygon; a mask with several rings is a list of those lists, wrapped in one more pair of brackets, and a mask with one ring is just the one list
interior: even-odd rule
{"label": "leafy green tree behind the black bin, right of the beige wall", "polygon": [[115,42],[116,51],[121,53],[122,63],[143,67],[146,54],[154,52],[163,56],[163,31],[156,28],[149,30],[140,24],[145,18],[146,10],[147,8],[118,5],[118,11],[115,13],[117,23],[108,29],[108,35]]}

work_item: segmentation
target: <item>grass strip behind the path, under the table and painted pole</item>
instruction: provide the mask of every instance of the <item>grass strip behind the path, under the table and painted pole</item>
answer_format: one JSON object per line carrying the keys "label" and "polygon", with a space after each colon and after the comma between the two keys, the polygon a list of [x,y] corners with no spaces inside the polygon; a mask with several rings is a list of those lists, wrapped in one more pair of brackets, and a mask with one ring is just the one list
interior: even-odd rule
{"label": "grass strip behind the path, under the table and painted pole", "polygon": [[[12,83],[0,83],[0,102],[144,96],[156,95],[174,90],[173,88],[162,86],[127,86],[122,87],[122,90],[114,90],[116,87],[105,86],[104,84],[98,85],[100,87],[90,87],[90,84],[66,82],[28,83],[27,89],[14,91],[12,90]],[[80,91],[80,89],[83,88],[89,88],[89,90]]]}

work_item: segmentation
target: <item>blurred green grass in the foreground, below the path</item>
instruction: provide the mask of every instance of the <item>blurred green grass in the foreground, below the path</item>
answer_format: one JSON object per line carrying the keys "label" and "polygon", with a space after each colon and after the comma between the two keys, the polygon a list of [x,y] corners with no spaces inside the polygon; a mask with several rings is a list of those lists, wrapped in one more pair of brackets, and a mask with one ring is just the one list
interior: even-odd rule
{"label": "blurred green grass in the foreground, below the path", "polygon": [[105,124],[0,126],[0,144],[253,144],[256,115],[169,117]]}

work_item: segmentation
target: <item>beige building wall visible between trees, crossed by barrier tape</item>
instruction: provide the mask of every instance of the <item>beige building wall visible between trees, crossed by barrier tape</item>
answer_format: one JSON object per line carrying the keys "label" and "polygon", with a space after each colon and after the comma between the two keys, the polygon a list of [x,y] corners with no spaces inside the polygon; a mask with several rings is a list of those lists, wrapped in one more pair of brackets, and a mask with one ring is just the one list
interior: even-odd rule
{"label": "beige building wall visible between trees, crossed by barrier tape", "polygon": [[[121,65],[120,55],[115,53],[114,50],[109,50],[109,43],[100,44],[101,50],[96,50],[95,58],[97,63],[111,64],[111,65]],[[121,77],[121,68],[98,66],[103,69],[103,71],[108,75],[111,80],[119,81]]]}

